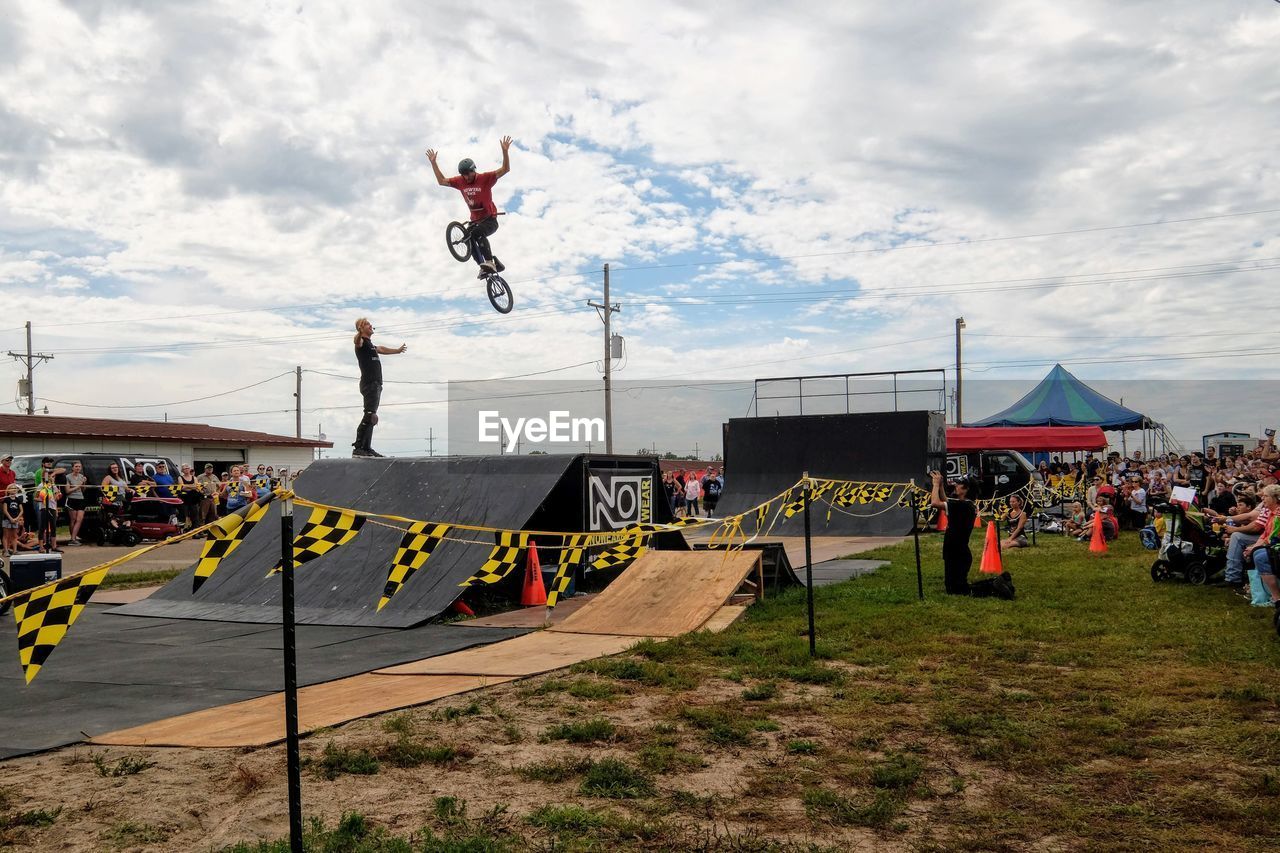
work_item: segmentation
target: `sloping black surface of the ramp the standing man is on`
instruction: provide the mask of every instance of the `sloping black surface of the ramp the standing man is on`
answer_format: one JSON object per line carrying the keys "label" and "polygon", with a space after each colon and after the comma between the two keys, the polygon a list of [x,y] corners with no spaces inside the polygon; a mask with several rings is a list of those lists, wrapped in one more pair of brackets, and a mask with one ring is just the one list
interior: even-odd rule
{"label": "sloping black surface of the ramp the standing man is on", "polygon": [[[522,528],[567,471],[575,456],[476,456],[461,459],[320,460],[297,480],[300,497],[430,521]],[[294,508],[294,532],[310,508]],[[402,530],[369,523],[356,539],[297,570],[297,621],[314,625],[408,628],[444,612],[458,587],[489,555],[492,534],[458,534],[481,544],[442,542],[426,566],[379,613]],[[238,622],[280,621],[279,576],[266,578],[280,555],[279,510],[266,517],[218,571],[192,594],[188,567],[150,598],[115,610]]]}

